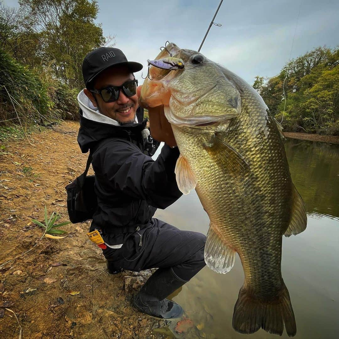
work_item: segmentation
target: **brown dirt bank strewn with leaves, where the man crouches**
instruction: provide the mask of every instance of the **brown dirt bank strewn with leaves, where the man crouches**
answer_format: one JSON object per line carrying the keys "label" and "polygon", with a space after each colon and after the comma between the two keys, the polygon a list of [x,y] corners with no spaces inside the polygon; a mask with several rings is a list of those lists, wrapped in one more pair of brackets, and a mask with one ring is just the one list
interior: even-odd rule
{"label": "brown dirt bank strewn with leaves, where the man crouches", "polygon": [[[56,211],[60,221],[67,220],[64,187],[84,170],[86,155],[77,144],[78,123],[56,129],[61,133],[29,136],[33,146],[26,140],[2,144],[0,265],[42,236],[30,222],[43,220],[44,205],[49,214]],[[0,306],[8,301],[23,338],[162,338],[152,329],[164,322],[131,306],[131,296],[150,272],[109,275],[101,250],[87,239],[88,223],[62,229],[66,238],[43,238],[31,252],[0,267]],[[18,338],[14,314],[3,310],[0,337]]]}

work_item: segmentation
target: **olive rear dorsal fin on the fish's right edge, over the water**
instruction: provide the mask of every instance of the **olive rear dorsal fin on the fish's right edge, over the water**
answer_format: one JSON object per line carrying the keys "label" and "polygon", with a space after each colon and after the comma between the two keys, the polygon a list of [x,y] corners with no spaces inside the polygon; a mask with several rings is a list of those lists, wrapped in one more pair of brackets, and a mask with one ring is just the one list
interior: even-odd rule
{"label": "olive rear dorsal fin on the fish's right edge, over the water", "polygon": [[297,235],[305,230],[307,224],[307,215],[304,202],[298,193],[294,184],[292,184],[292,211],[291,221],[285,232],[285,237],[292,234]]}

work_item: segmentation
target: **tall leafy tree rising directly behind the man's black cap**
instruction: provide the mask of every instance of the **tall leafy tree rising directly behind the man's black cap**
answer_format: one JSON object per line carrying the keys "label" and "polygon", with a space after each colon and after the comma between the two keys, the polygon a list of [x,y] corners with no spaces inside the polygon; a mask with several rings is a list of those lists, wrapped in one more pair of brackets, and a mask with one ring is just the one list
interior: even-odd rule
{"label": "tall leafy tree rising directly behind the man's black cap", "polygon": [[82,88],[81,64],[93,48],[104,44],[102,28],[94,20],[99,7],[88,0],[19,0],[25,27],[41,39],[38,56],[55,60],[54,74],[72,88]]}

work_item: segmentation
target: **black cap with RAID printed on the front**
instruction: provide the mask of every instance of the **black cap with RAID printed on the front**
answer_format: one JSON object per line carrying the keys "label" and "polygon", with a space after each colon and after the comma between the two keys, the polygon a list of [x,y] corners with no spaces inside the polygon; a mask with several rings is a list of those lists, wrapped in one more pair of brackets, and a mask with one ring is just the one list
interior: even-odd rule
{"label": "black cap with RAID printed on the front", "polygon": [[142,69],[142,64],[134,61],[127,61],[126,56],[118,48],[99,47],[89,52],[82,63],[82,76],[85,86],[106,68],[116,65],[126,65],[131,72],[138,72]]}

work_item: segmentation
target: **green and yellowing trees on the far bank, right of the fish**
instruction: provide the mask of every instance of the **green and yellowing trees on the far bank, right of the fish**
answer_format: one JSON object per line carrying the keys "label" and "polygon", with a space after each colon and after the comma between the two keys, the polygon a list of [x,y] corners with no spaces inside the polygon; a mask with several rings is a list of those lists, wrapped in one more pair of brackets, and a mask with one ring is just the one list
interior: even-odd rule
{"label": "green and yellowing trees on the far bank, right of the fish", "polygon": [[253,87],[284,131],[339,135],[339,46],[317,47]]}

